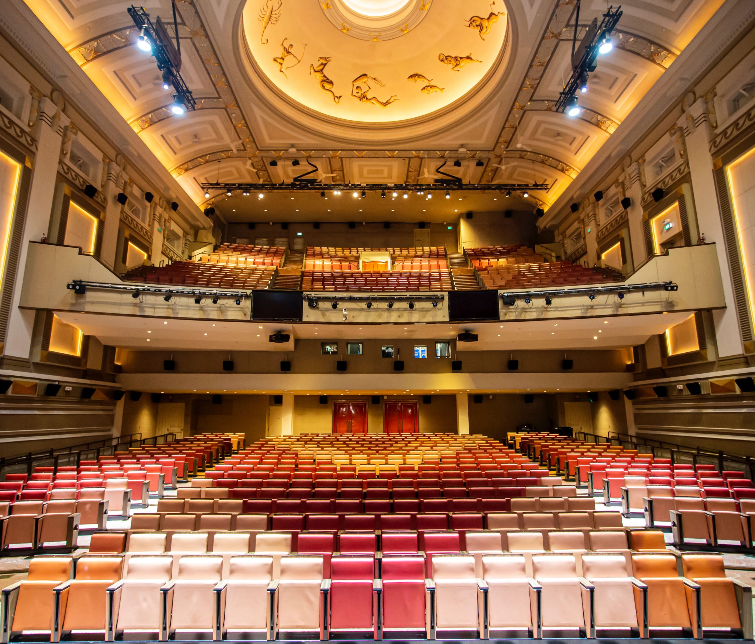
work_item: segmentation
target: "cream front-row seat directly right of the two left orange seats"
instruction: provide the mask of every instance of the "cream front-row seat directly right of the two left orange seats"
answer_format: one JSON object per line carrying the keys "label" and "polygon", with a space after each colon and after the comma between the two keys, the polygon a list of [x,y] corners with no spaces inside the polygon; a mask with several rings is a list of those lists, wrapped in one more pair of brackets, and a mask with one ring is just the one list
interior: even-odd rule
{"label": "cream front-row seat directly right of the two left orange seats", "polygon": [[[135,555],[124,578],[107,588],[108,639],[120,633],[139,633],[140,639],[157,639],[162,624],[160,588],[171,578],[172,559],[165,555]],[[154,633],[146,637],[146,633]]]}

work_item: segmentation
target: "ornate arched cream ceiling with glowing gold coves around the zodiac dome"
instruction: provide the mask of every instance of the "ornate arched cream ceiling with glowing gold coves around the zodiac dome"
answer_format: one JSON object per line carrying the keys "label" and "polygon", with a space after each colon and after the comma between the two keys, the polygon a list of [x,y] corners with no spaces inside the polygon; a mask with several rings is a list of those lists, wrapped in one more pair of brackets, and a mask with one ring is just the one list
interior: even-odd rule
{"label": "ornate arched cream ceiling with glowing gold coves around the zodiac dome", "polygon": [[[39,29],[50,30],[190,197],[239,221],[260,214],[256,199],[233,197],[234,204],[245,203],[234,205],[234,212],[223,204],[225,195],[205,199],[199,184],[279,182],[293,176],[294,159],[310,159],[324,183],[430,183],[448,160],[444,171],[492,189],[496,183],[546,181],[547,193],[510,201],[513,208],[548,208],[597,150],[610,145],[616,128],[723,4],[622,2],[616,46],[599,58],[581,96],[581,116],[569,119],[553,104],[569,75],[575,0],[177,0],[181,72],[198,103],[183,117],[171,114],[171,92],[162,89],[153,60],[135,46],[130,2],[24,2],[39,17]],[[172,23],[169,0],[143,4],[153,18]],[[265,20],[267,10],[269,43],[262,45],[259,15]],[[578,39],[603,11],[604,0],[582,0]],[[483,41],[470,20],[494,12],[501,18]],[[381,31],[399,19],[401,29]],[[351,29],[341,32],[339,22]],[[378,33],[372,40],[370,34]],[[284,38],[302,60],[286,70],[290,84],[273,63]],[[470,54],[483,63],[454,71],[437,59],[441,53]],[[339,104],[319,88],[319,72],[310,75],[321,56],[331,58],[325,76],[343,96]],[[423,66],[408,72],[410,61]],[[368,82],[366,94],[362,87],[358,96],[385,101],[396,94],[399,100],[381,107],[353,97],[352,81],[362,73],[385,86]],[[406,80],[413,73],[444,91],[422,93],[424,85]],[[341,106],[346,114],[337,111]],[[489,210],[500,209],[500,202],[489,201]],[[317,193],[310,205],[316,202]],[[418,212],[425,207],[418,204]],[[266,220],[287,215],[285,205],[264,214]]]}

